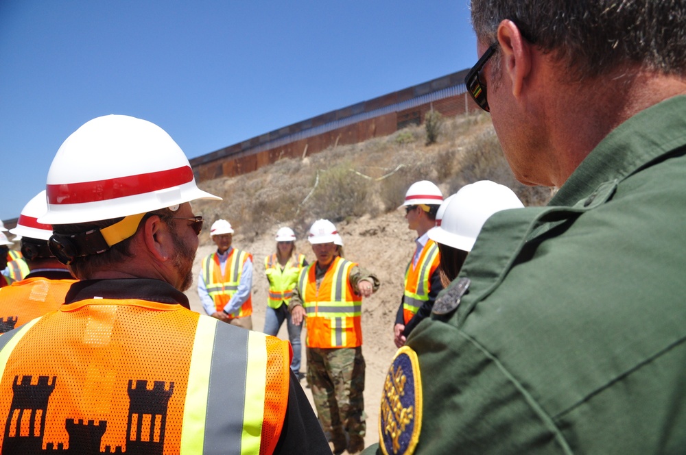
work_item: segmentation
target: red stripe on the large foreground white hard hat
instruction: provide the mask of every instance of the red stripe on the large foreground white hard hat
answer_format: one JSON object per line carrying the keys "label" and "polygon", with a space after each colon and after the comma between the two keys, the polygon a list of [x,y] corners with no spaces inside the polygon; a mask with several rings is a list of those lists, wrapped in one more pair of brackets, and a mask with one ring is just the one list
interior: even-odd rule
{"label": "red stripe on the large foreground white hard hat", "polygon": [[117,197],[135,196],[151,191],[164,190],[193,180],[190,166],[127,175],[108,180],[69,184],[47,185],[48,204],[83,204],[84,202],[108,201]]}

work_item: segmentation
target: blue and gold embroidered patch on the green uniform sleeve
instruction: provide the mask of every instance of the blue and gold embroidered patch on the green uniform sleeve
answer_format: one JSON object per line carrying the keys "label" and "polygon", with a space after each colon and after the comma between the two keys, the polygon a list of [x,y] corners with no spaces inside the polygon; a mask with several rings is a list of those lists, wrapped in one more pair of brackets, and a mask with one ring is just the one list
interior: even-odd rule
{"label": "blue and gold embroidered patch on the green uniform sleeve", "polygon": [[422,426],[422,381],[412,348],[403,346],[383,382],[379,445],[384,455],[412,455]]}

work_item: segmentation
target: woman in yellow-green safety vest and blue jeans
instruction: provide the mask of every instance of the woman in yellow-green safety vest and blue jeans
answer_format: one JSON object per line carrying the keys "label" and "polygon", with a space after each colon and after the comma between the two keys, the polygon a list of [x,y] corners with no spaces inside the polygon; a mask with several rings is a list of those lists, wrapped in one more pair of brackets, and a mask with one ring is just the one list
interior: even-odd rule
{"label": "woman in yellow-green safety vest and blue jeans", "polygon": [[265,274],[269,281],[269,295],[267,312],[264,319],[265,334],[276,336],[279,328],[286,321],[288,339],[293,348],[291,370],[298,380],[305,377],[300,372],[300,331],[303,322],[294,324],[288,312],[288,304],[293,295],[293,288],[298,282],[298,275],[303,267],[307,267],[304,254],[298,254],[295,249],[296,234],[290,227],[281,227],[276,232],[276,253],[264,258]]}

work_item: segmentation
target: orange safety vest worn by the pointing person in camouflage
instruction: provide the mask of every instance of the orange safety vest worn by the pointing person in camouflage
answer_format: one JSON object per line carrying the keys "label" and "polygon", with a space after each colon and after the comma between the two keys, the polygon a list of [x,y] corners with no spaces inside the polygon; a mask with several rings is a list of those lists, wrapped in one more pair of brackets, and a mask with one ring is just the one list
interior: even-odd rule
{"label": "orange safety vest worn by the pointing person in camouflage", "polygon": [[300,271],[298,292],[307,313],[307,347],[362,346],[362,295],[350,283],[355,262],[337,256],[317,288],[316,264]]}

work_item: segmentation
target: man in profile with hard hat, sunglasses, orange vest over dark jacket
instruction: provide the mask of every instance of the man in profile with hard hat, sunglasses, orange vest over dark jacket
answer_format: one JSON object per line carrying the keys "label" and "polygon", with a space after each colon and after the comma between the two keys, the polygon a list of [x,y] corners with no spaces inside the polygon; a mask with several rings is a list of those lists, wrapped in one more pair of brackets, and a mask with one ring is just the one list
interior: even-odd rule
{"label": "man in profile with hard hat, sunglasses, orange vest over dark jacket", "polygon": [[[407,227],[416,231],[416,247],[412,259],[405,269],[403,298],[395,318],[393,341],[397,347],[421,319],[431,314],[436,296],[442,291],[438,264],[440,254],[436,243],[427,232],[436,225],[436,214],[443,201],[443,195],[433,182],[421,180],[407,188],[405,201],[399,208],[405,209]],[[419,313],[419,317],[412,321]]]}

